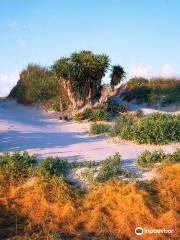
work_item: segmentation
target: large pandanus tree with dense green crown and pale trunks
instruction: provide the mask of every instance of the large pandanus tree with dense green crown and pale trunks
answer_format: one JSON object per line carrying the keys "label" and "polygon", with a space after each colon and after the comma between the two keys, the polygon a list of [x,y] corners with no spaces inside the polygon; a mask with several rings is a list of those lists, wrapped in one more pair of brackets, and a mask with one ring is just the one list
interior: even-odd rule
{"label": "large pandanus tree with dense green crown and pale trunks", "polygon": [[61,87],[67,92],[73,109],[100,97],[101,80],[109,67],[109,57],[91,51],[74,52],[52,66]]}

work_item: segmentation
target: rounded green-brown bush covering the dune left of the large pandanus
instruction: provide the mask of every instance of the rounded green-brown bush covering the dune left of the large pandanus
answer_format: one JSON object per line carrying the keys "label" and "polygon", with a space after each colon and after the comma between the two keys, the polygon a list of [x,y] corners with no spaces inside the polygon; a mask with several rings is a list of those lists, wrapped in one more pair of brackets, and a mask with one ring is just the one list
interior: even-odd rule
{"label": "rounded green-brown bush covering the dune left of the large pandanus", "polygon": [[20,80],[10,93],[18,102],[32,104],[55,98],[58,82],[53,74],[39,65],[29,64],[20,74]]}

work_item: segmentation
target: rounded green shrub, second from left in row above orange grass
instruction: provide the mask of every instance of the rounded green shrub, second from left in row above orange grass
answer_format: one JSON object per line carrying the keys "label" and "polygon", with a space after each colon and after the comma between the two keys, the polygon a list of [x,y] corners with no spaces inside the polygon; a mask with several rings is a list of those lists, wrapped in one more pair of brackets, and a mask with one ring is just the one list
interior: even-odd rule
{"label": "rounded green shrub, second from left in row above orange grass", "polygon": [[65,176],[69,169],[66,159],[48,157],[40,161],[37,167],[39,177],[46,176]]}

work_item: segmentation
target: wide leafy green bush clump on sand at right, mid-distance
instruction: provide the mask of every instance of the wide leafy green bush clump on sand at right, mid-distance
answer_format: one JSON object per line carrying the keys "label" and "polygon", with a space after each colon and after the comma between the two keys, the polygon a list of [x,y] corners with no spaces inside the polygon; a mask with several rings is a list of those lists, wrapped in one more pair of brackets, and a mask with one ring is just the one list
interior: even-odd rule
{"label": "wide leafy green bush clump on sand at right, mid-distance", "polygon": [[179,129],[179,115],[152,113],[141,118],[120,115],[112,128],[112,136],[141,144],[165,144],[180,141]]}

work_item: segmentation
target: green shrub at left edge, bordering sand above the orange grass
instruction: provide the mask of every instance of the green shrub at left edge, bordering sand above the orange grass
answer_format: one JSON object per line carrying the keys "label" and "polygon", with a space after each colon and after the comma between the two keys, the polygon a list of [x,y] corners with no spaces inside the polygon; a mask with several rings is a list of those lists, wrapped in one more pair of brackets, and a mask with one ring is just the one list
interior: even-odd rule
{"label": "green shrub at left edge, bordering sand above the orange grass", "polygon": [[9,184],[16,184],[27,178],[36,163],[36,157],[27,152],[15,152],[12,155],[5,152],[0,155],[0,175]]}

